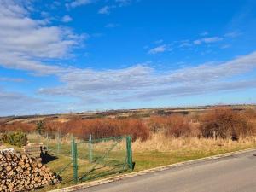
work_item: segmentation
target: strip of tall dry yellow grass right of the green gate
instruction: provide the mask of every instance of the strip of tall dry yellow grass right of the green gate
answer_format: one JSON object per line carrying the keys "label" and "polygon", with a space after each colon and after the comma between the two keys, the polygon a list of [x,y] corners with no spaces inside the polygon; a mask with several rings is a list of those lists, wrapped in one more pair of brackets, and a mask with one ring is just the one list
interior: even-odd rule
{"label": "strip of tall dry yellow grass right of the green gate", "polygon": [[256,137],[241,138],[239,141],[230,139],[209,139],[197,137],[166,137],[162,133],[154,133],[145,142],[137,140],[132,143],[134,152],[172,152],[177,150],[215,151],[218,149],[249,148],[256,146]]}

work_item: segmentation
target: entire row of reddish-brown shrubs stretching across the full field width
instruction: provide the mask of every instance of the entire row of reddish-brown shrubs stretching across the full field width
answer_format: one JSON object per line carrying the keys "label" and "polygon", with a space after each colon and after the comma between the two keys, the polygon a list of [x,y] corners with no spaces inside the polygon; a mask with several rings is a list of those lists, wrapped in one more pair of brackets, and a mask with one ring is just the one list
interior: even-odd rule
{"label": "entire row of reddish-brown shrubs stretching across the full field width", "polygon": [[255,118],[254,109],[241,112],[232,108],[212,108],[192,119],[191,116],[182,114],[151,116],[148,119],[74,118],[64,123],[52,119],[38,124],[17,122],[0,125],[0,131],[47,131],[53,137],[59,131],[62,135],[73,134],[81,139],[87,139],[92,134],[94,138],[132,135],[134,140],[147,140],[150,132],[158,131],[171,137],[239,138],[255,135],[255,125],[252,123]]}

